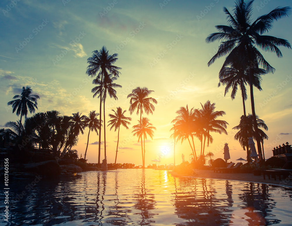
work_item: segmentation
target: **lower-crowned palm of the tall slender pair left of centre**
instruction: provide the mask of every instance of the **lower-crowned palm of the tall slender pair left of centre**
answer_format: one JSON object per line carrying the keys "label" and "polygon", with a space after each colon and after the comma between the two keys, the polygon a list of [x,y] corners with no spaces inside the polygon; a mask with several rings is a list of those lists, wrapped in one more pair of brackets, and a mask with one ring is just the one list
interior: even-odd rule
{"label": "lower-crowned palm of the tall slender pair left of centre", "polygon": [[[97,94],[102,96],[102,102],[103,102],[103,121],[104,121],[104,138],[105,138],[105,100],[107,98],[107,93],[109,94],[110,98],[114,98],[117,100],[117,91],[115,88],[122,88],[121,85],[118,85],[116,83],[113,83],[113,81],[117,80],[117,77],[112,77],[112,74],[106,74],[104,76],[103,82],[101,82],[98,79],[93,79],[92,83],[97,84],[98,86],[95,86],[91,92],[94,93],[93,97],[95,97]],[[103,86],[103,87],[101,87]],[[101,88],[100,88],[101,87]],[[100,91],[102,92],[100,94]],[[106,139],[105,142],[105,158],[106,158]]]}

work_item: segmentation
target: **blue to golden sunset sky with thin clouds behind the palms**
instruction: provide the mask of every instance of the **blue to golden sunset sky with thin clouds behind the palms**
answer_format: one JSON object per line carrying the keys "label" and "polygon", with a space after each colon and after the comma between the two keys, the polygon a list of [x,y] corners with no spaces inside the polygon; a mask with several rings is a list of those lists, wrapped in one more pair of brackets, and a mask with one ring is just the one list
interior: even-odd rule
{"label": "blue to golden sunset sky with thin clouds behind the palms", "polygon": [[[207,66],[220,43],[205,42],[209,34],[216,32],[215,25],[227,25],[223,6],[232,11],[234,5],[233,0],[1,1],[0,128],[4,128],[7,121],[19,120],[7,102],[14,95],[20,95],[22,86],[27,85],[40,96],[36,112],[53,109],[61,115],[99,112],[99,100],[91,93],[92,78],[85,72],[92,51],[106,46],[110,54],[118,53],[115,65],[122,68],[117,79],[122,88],[117,88],[117,101],[107,98],[106,116],[111,109],[120,106],[127,110],[127,117],[132,117],[131,126],[137,124],[140,117],[135,113],[130,116],[127,99],[137,86],[153,90],[152,97],[158,101],[153,115],[147,116],[157,130],[154,139],[146,142],[146,166],[159,155],[161,164],[173,163],[174,140],[170,139],[169,130],[175,112],[186,105],[200,108],[200,103],[207,100],[216,103],[216,110],[226,112],[220,119],[229,126],[228,135],[211,134],[214,142],[205,152],[213,152],[215,159],[223,158],[227,142],[231,161],[246,159],[246,152],[234,140],[237,131],[232,129],[243,114],[241,95],[238,93],[234,100],[230,93],[224,97],[224,87],[218,88],[218,72],[224,58]],[[289,0],[255,0],[253,20],[278,6],[291,5]],[[275,22],[268,35],[291,43],[291,23],[292,16]],[[269,128],[266,132],[269,139],[264,142],[266,158],[272,155],[275,146],[292,142],[292,51],[280,50],[283,58],[261,51],[276,71],[263,76],[263,91],[254,89],[256,114]],[[248,88],[246,109],[249,113],[250,105]],[[120,129],[117,162],[142,165],[141,146],[138,138],[133,137],[131,126],[128,130]],[[84,156],[87,135],[88,128],[74,147],[79,157]],[[108,163],[114,162],[116,145],[117,131],[109,131],[107,127]],[[199,140],[195,140],[195,147],[199,155]],[[176,164],[179,164],[181,155],[189,160],[192,151],[187,141],[182,144],[179,141],[175,152]],[[98,136],[94,133],[89,138],[86,159],[91,163],[98,159]]]}

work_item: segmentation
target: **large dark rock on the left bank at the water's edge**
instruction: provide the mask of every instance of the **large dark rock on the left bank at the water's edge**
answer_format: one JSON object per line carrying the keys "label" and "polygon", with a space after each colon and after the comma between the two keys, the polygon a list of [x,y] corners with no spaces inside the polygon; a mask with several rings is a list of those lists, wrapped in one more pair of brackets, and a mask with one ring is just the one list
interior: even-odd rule
{"label": "large dark rock on the left bank at the water's edge", "polygon": [[37,173],[48,177],[60,175],[60,166],[55,160],[49,160],[38,163],[23,164],[24,170],[27,172]]}

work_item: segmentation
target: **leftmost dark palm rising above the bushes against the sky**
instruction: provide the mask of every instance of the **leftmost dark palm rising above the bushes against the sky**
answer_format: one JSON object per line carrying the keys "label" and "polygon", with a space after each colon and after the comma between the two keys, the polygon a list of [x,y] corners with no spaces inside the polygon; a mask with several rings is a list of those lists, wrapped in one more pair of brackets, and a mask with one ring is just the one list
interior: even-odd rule
{"label": "leftmost dark palm rising above the bushes against the sky", "polygon": [[[26,118],[28,111],[32,114],[35,112],[35,108],[37,109],[37,99],[39,99],[39,96],[32,95],[32,89],[29,86],[23,86],[21,95],[15,95],[13,99],[14,100],[9,101],[7,105],[12,105],[12,113],[16,111],[16,115],[20,115],[21,125],[22,116]],[[18,135],[20,135],[20,127]]]}

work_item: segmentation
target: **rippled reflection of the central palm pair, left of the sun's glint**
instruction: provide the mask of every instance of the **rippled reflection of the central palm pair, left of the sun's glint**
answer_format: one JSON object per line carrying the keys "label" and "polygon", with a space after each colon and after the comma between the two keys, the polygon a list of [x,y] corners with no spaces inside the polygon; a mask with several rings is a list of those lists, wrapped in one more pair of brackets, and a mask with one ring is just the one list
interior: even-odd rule
{"label": "rippled reflection of the central palm pair, left of the sun's glint", "polygon": [[156,201],[154,200],[154,194],[146,192],[145,188],[145,169],[142,169],[141,175],[141,194],[137,195],[137,203],[134,205],[134,208],[141,211],[142,220],[140,225],[155,223],[153,220],[148,220],[153,218],[153,215],[158,215],[150,213],[150,210],[155,209]]}

